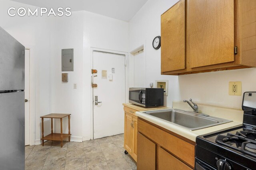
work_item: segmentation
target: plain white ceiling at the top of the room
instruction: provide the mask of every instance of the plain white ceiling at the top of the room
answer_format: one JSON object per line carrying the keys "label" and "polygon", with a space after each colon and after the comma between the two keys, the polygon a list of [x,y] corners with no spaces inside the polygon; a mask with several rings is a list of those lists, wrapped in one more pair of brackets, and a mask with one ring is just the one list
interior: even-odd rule
{"label": "plain white ceiling at the top of the room", "polygon": [[148,0],[12,0],[38,7],[70,7],[72,11],[89,11],[123,21],[132,17]]}

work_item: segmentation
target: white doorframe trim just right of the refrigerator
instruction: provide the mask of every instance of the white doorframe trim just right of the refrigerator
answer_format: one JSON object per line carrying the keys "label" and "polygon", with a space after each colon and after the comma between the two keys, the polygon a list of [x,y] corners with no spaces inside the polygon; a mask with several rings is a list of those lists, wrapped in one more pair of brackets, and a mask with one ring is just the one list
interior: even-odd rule
{"label": "white doorframe trim just right of the refrigerator", "polygon": [[35,145],[36,140],[36,47],[25,44],[30,51],[30,145]]}

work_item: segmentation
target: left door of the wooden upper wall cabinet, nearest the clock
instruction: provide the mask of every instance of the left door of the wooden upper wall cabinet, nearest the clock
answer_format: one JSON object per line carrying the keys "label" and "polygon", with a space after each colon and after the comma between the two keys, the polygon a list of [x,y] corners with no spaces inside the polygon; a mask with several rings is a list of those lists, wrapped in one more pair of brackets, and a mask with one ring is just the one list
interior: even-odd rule
{"label": "left door of the wooden upper wall cabinet, nearest the clock", "polygon": [[185,68],[185,0],[161,16],[161,72]]}

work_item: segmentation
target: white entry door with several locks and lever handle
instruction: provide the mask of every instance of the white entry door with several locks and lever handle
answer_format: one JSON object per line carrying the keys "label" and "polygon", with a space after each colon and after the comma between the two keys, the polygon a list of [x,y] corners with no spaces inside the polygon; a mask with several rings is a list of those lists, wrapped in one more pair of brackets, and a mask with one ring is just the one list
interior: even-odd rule
{"label": "white entry door with several locks and lever handle", "polygon": [[94,139],[124,133],[125,56],[94,51],[93,69]]}

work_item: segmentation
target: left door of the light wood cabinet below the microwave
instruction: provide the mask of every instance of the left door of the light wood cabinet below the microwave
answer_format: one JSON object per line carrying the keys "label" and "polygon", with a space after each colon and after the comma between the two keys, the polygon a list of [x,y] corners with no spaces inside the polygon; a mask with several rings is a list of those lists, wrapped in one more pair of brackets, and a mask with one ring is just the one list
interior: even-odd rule
{"label": "left door of the light wood cabinet below the microwave", "polygon": [[130,154],[132,153],[133,147],[133,133],[132,116],[124,113],[124,148]]}

